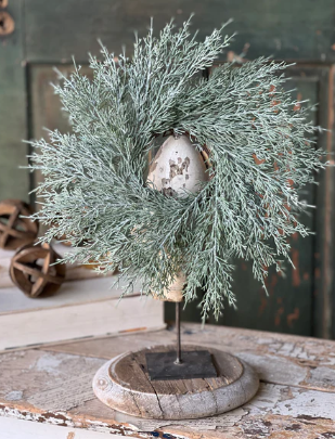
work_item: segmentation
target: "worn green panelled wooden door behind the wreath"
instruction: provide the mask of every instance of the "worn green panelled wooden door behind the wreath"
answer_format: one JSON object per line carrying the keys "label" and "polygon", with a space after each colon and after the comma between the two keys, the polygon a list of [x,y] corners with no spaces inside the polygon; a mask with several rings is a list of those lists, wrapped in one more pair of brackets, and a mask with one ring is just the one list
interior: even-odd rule
{"label": "worn green panelled wooden door behind the wreath", "polygon": [[[0,1],[0,198],[28,198],[35,180],[27,170],[27,146],[22,139],[41,137],[41,128],[67,130],[60,103],[52,94],[53,66],[67,72],[72,55],[82,65],[87,53],[99,53],[98,38],[116,54],[126,44],[131,50],[133,31],[144,34],[154,16],[159,29],[176,17],[176,24],[192,12],[194,29],[203,38],[228,18],[228,33],[239,34],[222,62],[246,52],[247,59],[273,55],[296,62],[289,88],[302,99],[319,102],[314,122],[334,126],[335,3],[333,0],[9,0]],[[1,7],[5,7],[2,8]],[[1,18],[2,16],[2,18]],[[3,18],[4,16],[4,18]],[[9,17],[14,31],[8,34]],[[1,30],[2,29],[2,30]],[[319,139],[320,146],[334,151],[333,134]],[[219,323],[335,338],[334,280],[334,169],[319,176],[319,186],[304,194],[318,209],[306,217],[315,236],[293,237],[297,270],[287,268],[285,280],[270,272],[269,297],[253,280],[250,267],[236,261],[235,292],[239,311],[227,309]],[[171,310],[167,308],[167,315]],[[199,320],[196,304],[183,313]]]}

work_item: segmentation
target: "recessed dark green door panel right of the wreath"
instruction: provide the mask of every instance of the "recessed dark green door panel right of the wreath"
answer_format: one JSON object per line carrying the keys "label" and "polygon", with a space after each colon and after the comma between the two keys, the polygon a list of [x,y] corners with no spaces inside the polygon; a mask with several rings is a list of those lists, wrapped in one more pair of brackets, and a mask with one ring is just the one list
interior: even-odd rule
{"label": "recessed dark green door panel right of the wreath", "polygon": [[[295,67],[288,75],[292,79],[285,85],[285,88],[287,90],[296,89],[292,93],[294,98],[308,99],[310,104],[317,104],[320,83],[318,72]],[[312,113],[310,119],[317,125],[319,114]],[[315,186],[306,188],[300,196],[308,204],[313,205]],[[313,230],[314,212],[309,211],[308,214],[301,216],[300,220]],[[301,238],[296,234],[289,238],[289,243],[291,257],[296,270],[286,263],[286,277],[284,279],[275,272],[275,269],[271,268],[266,282],[269,296],[254,280],[252,263],[236,261],[234,288],[237,294],[239,310],[226,310],[219,323],[311,335],[314,238],[313,236]]]}

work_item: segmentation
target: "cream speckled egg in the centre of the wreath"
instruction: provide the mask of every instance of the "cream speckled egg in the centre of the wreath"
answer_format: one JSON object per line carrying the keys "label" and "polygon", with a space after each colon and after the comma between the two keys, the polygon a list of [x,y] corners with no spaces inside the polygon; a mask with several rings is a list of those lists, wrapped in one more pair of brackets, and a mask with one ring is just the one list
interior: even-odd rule
{"label": "cream speckled egg in the centre of the wreath", "polygon": [[147,181],[169,196],[185,196],[185,190],[197,192],[199,182],[208,180],[202,154],[186,135],[170,135],[159,147],[147,175]]}

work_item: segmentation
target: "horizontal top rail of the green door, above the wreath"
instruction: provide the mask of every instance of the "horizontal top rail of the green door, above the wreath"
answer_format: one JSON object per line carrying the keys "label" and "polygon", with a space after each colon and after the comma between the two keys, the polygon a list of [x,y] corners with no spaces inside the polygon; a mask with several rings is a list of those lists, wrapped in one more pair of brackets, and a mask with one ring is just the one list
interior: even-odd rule
{"label": "horizontal top rail of the green door, above the wreath", "polygon": [[98,38],[117,54],[121,44],[131,51],[133,31],[146,33],[151,16],[158,31],[172,16],[180,25],[192,12],[193,28],[199,29],[199,38],[233,17],[228,33],[236,30],[239,35],[231,50],[241,53],[247,46],[252,59],[274,55],[317,62],[335,60],[332,0],[259,0],[244,2],[243,8],[232,0],[81,0],[80,14],[77,0],[61,0],[52,5],[43,0],[25,0],[25,9],[27,59],[35,63],[68,62],[73,54],[85,61],[87,52],[99,52]]}

